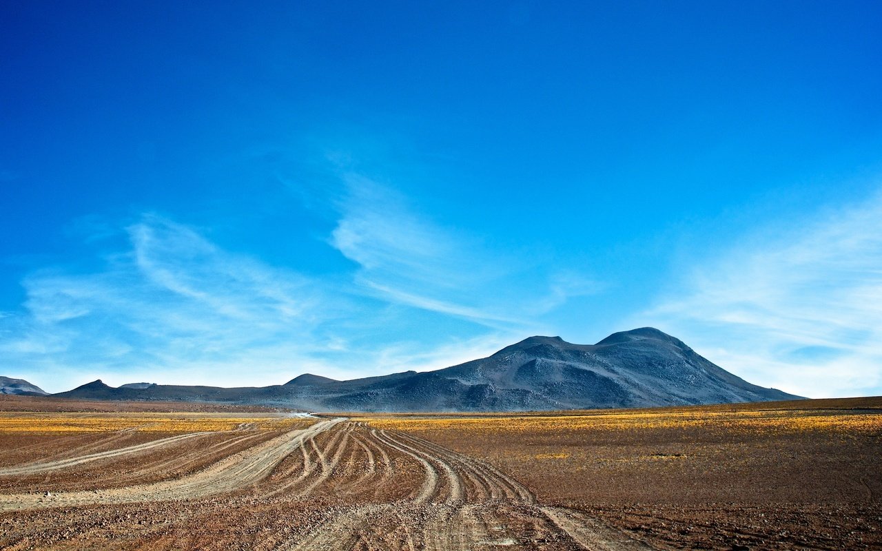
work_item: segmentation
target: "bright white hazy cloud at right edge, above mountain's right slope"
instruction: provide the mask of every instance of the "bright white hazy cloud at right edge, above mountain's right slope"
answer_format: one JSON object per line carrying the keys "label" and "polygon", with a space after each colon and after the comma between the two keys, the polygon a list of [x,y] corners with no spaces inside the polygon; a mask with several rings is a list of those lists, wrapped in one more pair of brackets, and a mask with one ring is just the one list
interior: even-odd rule
{"label": "bright white hazy cloud at right edge, above mountain's right slope", "polygon": [[689,272],[639,323],[751,382],[882,393],[882,195],[766,227]]}

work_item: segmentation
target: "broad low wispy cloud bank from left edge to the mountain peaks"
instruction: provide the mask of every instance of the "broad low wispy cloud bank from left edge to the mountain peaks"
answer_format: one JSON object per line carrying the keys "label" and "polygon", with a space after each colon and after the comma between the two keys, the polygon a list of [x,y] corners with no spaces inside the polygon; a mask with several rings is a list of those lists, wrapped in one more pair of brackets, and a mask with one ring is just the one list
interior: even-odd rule
{"label": "broad low wispy cloud bank from left edge to the mountain peaks", "polygon": [[512,337],[485,329],[415,339],[410,317],[391,304],[486,314],[393,289],[377,290],[383,301],[366,298],[229,253],[206,232],[156,214],[123,233],[127,247],[91,272],[53,267],[24,279],[23,309],[0,317],[0,358],[11,375],[48,391],[94,378],[226,386],[284,383],[306,371],[352,378],[445,367]]}

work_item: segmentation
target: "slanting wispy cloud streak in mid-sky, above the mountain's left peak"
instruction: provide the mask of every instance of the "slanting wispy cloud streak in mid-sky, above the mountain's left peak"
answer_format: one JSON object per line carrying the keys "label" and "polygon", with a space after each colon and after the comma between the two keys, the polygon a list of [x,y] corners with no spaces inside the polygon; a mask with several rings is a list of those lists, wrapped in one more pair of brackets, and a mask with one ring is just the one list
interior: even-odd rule
{"label": "slanting wispy cloud streak in mid-sky, above the mountain's left peak", "polygon": [[444,227],[367,176],[343,171],[340,180],[329,242],[358,264],[354,281],[366,294],[520,335],[547,328],[540,317],[572,297],[602,289]]}

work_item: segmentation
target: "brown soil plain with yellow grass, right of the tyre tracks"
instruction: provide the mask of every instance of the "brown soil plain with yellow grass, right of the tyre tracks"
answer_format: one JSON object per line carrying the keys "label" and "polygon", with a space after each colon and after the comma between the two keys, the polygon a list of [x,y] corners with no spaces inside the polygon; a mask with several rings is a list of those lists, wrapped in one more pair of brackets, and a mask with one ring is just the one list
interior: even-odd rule
{"label": "brown soil plain with yellow grass, right of the tyre tracks", "polygon": [[[724,412],[789,428],[745,428],[721,419]],[[554,414],[531,413],[548,416],[548,425],[524,432],[505,422],[468,430],[427,423],[411,432],[488,461],[542,503],[585,512],[655,547],[882,548],[882,398],[630,412],[647,413],[707,416],[691,426],[609,430],[587,422],[574,430],[558,428]],[[818,419],[842,422],[818,427]]]}

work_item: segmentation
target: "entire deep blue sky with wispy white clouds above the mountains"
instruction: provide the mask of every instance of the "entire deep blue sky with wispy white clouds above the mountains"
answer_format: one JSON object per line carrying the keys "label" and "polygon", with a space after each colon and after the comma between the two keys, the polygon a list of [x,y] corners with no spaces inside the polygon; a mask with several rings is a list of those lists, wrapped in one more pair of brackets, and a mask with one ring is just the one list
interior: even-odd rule
{"label": "entire deep blue sky with wispy white clouds above the mountains", "polygon": [[882,394],[875,2],[5,2],[0,373],[437,369],[654,325]]}

